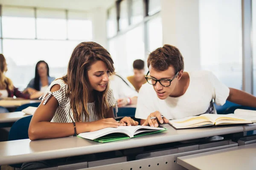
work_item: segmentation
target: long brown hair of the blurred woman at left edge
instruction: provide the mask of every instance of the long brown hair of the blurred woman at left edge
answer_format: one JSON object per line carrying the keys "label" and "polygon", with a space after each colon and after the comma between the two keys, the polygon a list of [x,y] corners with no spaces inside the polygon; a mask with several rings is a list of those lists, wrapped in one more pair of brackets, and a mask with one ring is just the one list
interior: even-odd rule
{"label": "long brown hair of the blurred woman at left edge", "polygon": [[0,89],[13,90],[14,86],[12,80],[5,76],[6,59],[3,54],[0,54]]}

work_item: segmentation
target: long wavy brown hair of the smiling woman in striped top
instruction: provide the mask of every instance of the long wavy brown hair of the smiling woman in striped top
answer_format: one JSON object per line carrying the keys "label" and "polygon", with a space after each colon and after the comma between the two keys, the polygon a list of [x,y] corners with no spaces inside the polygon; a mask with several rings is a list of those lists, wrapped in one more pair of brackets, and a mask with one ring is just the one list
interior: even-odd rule
{"label": "long wavy brown hair of the smiling woman in striped top", "polygon": [[[89,101],[90,82],[87,71],[96,61],[105,62],[110,74],[114,74],[113,60],[105,48],[96,42],[81,42],[70,57],[67,75],[61,78],[67,83],[67,96],[70,97],[70,108],[73,111],[73,121],[75,122],[82,122],[83,118],[86,120],[89,117],[87,103]],[[107,83],[105,91],[94,90],[95,114],[99,119],[102,119],[110,108],[107,100],[108,88],[109,83]]]}

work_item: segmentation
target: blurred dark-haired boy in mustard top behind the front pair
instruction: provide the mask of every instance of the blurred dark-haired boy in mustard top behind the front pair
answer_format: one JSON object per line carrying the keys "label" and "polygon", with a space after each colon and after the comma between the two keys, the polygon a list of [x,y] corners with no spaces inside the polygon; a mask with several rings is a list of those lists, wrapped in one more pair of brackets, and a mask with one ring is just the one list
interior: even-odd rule
{"label": "blurred dark-haired boy in mustard top behind the front pair", "polygon": [[141,59],[136,59],[133,63],[133,68],[134,75],[127,77],[127,79],[129,82],[131,82],[136,91],[139,91],[141,86],[147,82],[144,74],[144,61]]}

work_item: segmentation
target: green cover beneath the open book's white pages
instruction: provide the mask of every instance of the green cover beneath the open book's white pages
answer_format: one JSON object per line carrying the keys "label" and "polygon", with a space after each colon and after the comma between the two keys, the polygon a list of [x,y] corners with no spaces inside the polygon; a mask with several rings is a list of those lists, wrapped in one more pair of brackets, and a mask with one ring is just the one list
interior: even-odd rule
{"label": "green cover beneath the open book's white pages", "polygon": [[[149,134],[153,134],[153,133],[159,133],[159,132],[163,132],[166,131],[168,129],[164,128],[164,130],[157,130],[157,131],[150,131],[150,132],[143,132],[143,133],[139,133],[137,135],[134,135],[134,138],[139,137],[139,136],[144,136],[144,135],[149,135]],[[118,133],[120,134],[120,133]],[[102,136],[100,138],[94,139],[94,141],[96,142],[101,142],[101,143],[105,143],[105,142],[113,142],[113,141],[119,141],[119,140],[124,140],[124,139],[130,139],[129,136],[126,136],[125,134],[120,134],[118,136],[113,136],[113,135],[107,135],[107,136]]]}

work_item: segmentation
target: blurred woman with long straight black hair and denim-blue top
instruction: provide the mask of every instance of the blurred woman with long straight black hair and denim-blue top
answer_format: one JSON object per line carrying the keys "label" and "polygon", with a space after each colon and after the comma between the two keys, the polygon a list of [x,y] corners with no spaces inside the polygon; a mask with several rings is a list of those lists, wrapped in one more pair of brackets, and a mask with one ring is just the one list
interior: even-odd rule
{"label": "blurred woman with long straight black hair and denim-blue top", "polygon": [[23,93],[33,94],[37,91],[45,92],[55,77],[49,76],[49,66],[45,61],[39,61],[35,66],[35,77],[30,80]]}

